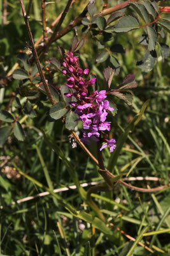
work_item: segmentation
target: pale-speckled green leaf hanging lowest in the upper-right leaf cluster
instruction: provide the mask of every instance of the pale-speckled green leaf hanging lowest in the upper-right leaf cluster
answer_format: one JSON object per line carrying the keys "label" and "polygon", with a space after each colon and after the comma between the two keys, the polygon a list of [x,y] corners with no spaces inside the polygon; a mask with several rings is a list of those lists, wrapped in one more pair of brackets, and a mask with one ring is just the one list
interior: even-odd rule
{"label": "pale-speckled green leaf hanging lowest in the upper-right leaf cluster", "polygon": [[138,61],[136,65],[141,68],[143,72],[150,72],[153,66],[155,65],[155,61],[157,60],[157,53],[154,51],[146,51],[143,60]]}

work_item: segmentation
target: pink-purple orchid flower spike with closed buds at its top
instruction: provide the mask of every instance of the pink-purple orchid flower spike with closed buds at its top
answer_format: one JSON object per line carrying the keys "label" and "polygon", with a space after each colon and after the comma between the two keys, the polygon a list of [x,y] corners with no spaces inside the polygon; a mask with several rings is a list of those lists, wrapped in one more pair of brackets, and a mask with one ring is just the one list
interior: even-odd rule
{"label": "pink-purple orchid flower spike with closed buds at its top", "polygon": [[[89,68],[82,70],[79,67],[79,60],[74,56],[73,52],[65,53],[65,60],[62,63],[64,69],[62,74],[67,77],[66,85],[69,87],[68,93],[64,95],[68,98],[74,97],[73,101],[69,104],[75,108],[76,113],[83,122],[83,138],[81,141],[90,145],[90,140],[105,142],[100,148],[109,146],[110,152],[116,148],[115,139],[108,140],[108,135],[104,131],[110,131],[111,122],[106,122],[106,116],[108,111],[114,109],[110,107],[108,100],[106,99],[106,90],[88,90],[89,86],[92,87],[96,83],[96,77],[92,79],[84,78],[89,74]],[[101,137],[103,134],[103,138]]]}

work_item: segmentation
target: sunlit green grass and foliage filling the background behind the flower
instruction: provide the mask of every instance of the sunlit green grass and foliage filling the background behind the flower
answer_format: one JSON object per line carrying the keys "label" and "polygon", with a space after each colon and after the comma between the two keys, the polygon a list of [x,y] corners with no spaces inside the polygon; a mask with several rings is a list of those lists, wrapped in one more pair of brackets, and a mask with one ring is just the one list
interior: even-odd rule
{"label": "sunlit green grass and foliage filling the background behind the flower", "polygon": [[[27,10],[29,1],[24,3]],[[108,8],[119,3],[112,0]],[[65,0],[46,4],[48,27],[66,4]],[[87,1],[75,1],[61,29],[80,15],[86,4]],[[122,84],[127,75],[134,74],[138,87],[133,89],[132,106],[114,97],[118,111],[110,116],[110,138],[120,138],[146,100],[148,107],[127,136],[114,168],[108,148],[103,152],[104,164],[121,177],[155,177],[155,181],[131,181],[140,188],[146,188],[146,184],[153,188],[169,183],[170,38],[168,13],[159,13],[161,19],[153,22],[159,12],[157,1],[153,3],[154,10],[153,4],[150,8],[146,4],[151,3],[131,3],[102,17],[93,15],[101,12],[103,6],[103,2],[96,1],[96,10],[90,6],[82,24],[50,45],[41,67],[58,102],[62,99],[58,93],[60,84],[66,82],[60,74],[62,57],[58,47],[69,50],[77,35],[78,40],[84,40],[78,51],[81,68],[88,67],[90,74],[97,76],[100,90],[106,90],[103,70],[108,66],[115,68],[111,90]],[[158,4],[165,5],[164,1]],[[36,42],[42,35],[40,1],[32,1],[29,16]],[[128,29],[126,24],[130,24]],[[134,26],[140,28],[134,30]],[[84,191],[78,184],[99,182],[101,175],[79,145],[72,148],[70,132],[62,121],[52,122],[48,115],[51,104],[43,92],[38,70],[34,61],[27,61],[30,42],[17,0],[4,0],[1,4],[0,28],[0,255],[169,255],[169,189],[155,194],[139,193],[115,181],[113,191],[92,193],[92,200],[110,226],[99,220],[86,200],[87,188]],[[16,70],[15,63],[18,63]],[[126,101],[131,105],[131,99]],[[81,124],[76,131],[81,131]],[[96,144],[88,148],[97,157]],[[53,189],[74,184],[78,189],[52,193]],[[21,198],[44,191],[50,191],[51,195],[20,202]],[[152,252],[135,244],[117,228],[137,238]],[[161,229],[163,234],[143,236],[145,232]]]}

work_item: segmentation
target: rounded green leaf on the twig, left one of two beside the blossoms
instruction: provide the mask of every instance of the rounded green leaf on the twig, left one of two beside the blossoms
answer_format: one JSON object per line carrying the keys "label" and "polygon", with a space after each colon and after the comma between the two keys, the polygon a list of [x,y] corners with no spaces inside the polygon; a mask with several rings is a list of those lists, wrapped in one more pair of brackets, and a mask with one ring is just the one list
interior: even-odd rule
{"label": "rounded green leaf on the twig, left one of two beside the blossoms", "polygon": [[57,120],[64,116],[67,113],[67,109],[64,108],[64,102],[57,102],[52,108],[50,108],[50,116],[51,118]]}

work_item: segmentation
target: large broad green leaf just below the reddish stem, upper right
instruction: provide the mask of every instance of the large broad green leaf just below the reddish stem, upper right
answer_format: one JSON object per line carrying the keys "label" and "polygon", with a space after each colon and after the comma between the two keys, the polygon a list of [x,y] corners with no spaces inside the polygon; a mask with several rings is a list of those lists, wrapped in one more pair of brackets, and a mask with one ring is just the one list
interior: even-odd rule
{"label": "large broad green leaf just below the reddish stem, upper right", "polygon": [[132,29],[139,28],[138,20],[130,15],[122,17],[118,20],[117,25],[114,28],[114,32],[121,33],[131,31]]}

